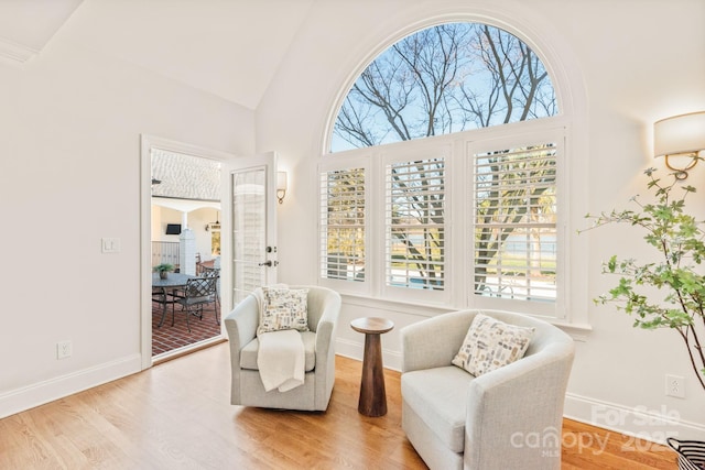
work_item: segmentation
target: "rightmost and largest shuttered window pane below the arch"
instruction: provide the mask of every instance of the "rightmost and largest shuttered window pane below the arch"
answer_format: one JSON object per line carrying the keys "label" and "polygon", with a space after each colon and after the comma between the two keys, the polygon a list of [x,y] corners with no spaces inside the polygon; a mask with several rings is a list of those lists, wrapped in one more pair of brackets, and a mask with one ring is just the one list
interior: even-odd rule
{"label": "rightmost and largest shuttered window pane below the arch", "polygon": [[555,302],[554,143],[475,155],[475,294]]}

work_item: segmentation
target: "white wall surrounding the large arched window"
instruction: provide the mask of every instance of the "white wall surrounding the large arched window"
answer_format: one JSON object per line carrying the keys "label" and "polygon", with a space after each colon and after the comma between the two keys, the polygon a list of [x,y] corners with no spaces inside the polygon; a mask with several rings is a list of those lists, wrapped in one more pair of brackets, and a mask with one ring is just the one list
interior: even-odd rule
{"label": "white wall surrounding the large arched window", "polygon": [[[663,167],[652,159],[652,123],[683,112],[705,110],[705,3],[699,0],[388,0],[317,2],[292,44],[286,61],[257,112],[257,150],[280,152],[290,171],[290,190],[279,219],[280,280],[316,282],[316,161],[325,125],[344,86],[372,52],[381,51],[410,25],[457,12],[486,14],[523,28],[557,57],[574,95],[571,159],[586,186],[572,186],[572,219],[622,207],[643,193],[642,171]],[[705,166],[688,183],[705,192]],[[702,206],[701,198],[691,203]],[[577,212],[577,214],[576,214]],[[583,227],[573,227],[574,229]],[[577,236],[576,236],[577,237]],[[614,253],[642,253],[626,230],[606,229],[579,236],[583,256],[573,259],[571,275],[586,286],[571,308],[585,314],[592,331],[568,329],[577,341],[566,414],[620,430],[662,440],[663,431],[705,438],[705,392],[696,385],[685,351],[672,331],[634,330],[632,319],[590,299],[611,287],[600,275],[600,261]],[[585,239],[583,239],[583,237]],[[397,328],[384,335],[386,363],[399,364],[399,330],[438,311],[346,297],[338,351],[361,356],[362,338],[348,327],[357,316],[382,315]],[[664,375],[686,378],[685,400],[664,396]],[[654,411],[650,422],[640,411]]]}

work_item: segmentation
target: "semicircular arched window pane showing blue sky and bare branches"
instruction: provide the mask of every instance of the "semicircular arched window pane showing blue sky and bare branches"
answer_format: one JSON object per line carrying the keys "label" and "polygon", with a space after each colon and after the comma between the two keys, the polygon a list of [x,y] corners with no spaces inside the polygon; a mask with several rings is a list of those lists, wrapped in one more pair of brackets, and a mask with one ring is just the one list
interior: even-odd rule
{"label": "semicircular arched window pane showing blue sky and bare branches", "polygon": [[419,31],[358,77],[335,121],[332,152],[507,124],[557,112],[541,59],[481,23]]}

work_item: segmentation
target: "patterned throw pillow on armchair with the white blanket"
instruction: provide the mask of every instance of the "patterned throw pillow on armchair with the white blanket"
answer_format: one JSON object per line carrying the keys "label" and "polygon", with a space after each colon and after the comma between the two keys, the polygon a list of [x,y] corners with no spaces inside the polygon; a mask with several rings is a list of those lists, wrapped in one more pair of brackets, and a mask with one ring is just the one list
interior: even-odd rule
{"label": "patterned throw pillow on armchair with the white blanket", "polygon": [[257,334],[283,329],[308,331],[307,288],[262,287]]}

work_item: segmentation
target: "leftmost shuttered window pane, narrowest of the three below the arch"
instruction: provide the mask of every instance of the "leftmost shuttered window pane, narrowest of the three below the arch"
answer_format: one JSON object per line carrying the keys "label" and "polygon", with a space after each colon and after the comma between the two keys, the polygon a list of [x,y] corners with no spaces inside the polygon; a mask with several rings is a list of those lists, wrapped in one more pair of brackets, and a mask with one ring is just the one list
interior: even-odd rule
{"label": "leftmost shuttered window pane, narrowest of the three below the arch", "polygon": [[321,276],[365,281],[365,170],[321,174]]}

